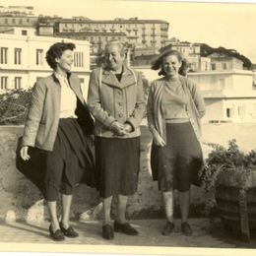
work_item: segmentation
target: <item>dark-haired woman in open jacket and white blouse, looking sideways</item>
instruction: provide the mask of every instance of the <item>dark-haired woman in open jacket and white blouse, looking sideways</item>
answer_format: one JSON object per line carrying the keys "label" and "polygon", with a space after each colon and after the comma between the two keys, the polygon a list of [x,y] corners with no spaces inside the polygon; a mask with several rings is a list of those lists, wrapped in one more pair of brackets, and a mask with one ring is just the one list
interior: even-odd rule
{"label": "dark-haired woman in open jacket and white blouse, looking sideways", "polygon": [[[43,175],[40,186],[36,185],[47,202],[50,236],[57,241],[78,236],[69,224],[72,194],[82,179],[92,185],[95,167],[91,148],[94,120],[79,78],[70,73],[74,48],[74,43],[57,42],[48,49],[46,61],[53,74],[33,87],[20,150],[21,159],[25,163],[33,161],[33,166],[33,156],[37,156],[37,167]],[[59,192],[63,206],[60,222],[56,210]]]}

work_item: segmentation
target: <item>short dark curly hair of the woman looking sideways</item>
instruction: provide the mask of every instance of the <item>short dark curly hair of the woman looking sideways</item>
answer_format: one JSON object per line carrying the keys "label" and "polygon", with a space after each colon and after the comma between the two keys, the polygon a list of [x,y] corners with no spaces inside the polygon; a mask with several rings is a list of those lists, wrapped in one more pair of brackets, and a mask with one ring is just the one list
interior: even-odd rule
{"label": "short dark curly hair of the woman looking sideways", "polygon": [[60,58],[63,51],[65,50],[74,50],[76,45],[73,42],[56,42],[52,44],[46,52],[46,61],[48,65],[55,70],[57,63],[56,58]]}

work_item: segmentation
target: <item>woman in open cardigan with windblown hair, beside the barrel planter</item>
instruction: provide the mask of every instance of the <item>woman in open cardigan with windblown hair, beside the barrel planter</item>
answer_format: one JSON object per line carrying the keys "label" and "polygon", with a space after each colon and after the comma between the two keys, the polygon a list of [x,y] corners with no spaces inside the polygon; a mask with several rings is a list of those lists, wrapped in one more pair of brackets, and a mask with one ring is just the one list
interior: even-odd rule
{"label": "woman in open cardigan with windblown hair, beside the barrel planter", "polygon": [[152,170],[157,177],[167,223],[163,235],[174,230],[173,190],[177,189],[181,213],[181,231],[191,235],[188,224],[190,185],[198,185],[202,166],[199,142],[200,118],[205,114],[204,99],[199,88],[184,75],[184,61],[176,50],[160,54],[152,69],[159,70],[160,79],[150,88],[147,115],[153,134]]}

